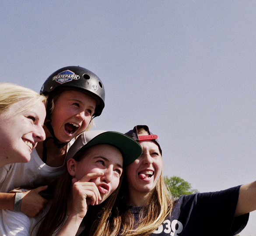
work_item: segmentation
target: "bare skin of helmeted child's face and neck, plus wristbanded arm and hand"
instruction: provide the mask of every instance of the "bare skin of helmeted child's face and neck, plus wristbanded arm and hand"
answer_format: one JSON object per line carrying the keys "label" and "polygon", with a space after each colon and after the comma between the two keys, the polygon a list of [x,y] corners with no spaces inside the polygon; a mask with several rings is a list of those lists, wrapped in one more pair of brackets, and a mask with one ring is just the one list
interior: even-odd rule
{"label": "bare skin of helmeted child's face and neck, plus wristbanded arm and hand", "polygon": [[[69,142],[75,136],[84,132],[91,121],[95,108],[95,99],[87,94],[73,90],[63,91],[55,102],[55,107],[52,112],[52,125],[56,138],[61,142]],[[46,138],[52,137],[49,130],[46,127],[43,128],[46,133]],[[58,148],[53,144],[53,140],[50,139],[46,143],[46,148],[46,164],[50,167],[62,166],[67,153],[67,146]],[[42,159],[42,142],[38,142],[36,151]],[[46,189],[47,186],[41,186],[24,192],[21,212],[30,217],[35,217],[42,212],[42,209],[45,208],[47,204],[47,200],[42,198],[39,193]],[[14,208],[14,198],[14,193],[0,193],[0,208],[12,210]]]}

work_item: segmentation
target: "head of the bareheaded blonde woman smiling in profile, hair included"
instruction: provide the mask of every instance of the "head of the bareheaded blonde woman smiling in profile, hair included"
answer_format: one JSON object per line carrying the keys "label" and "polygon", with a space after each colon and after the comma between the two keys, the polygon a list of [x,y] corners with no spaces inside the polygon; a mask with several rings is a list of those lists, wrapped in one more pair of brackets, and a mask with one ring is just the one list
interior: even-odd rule
{"label": "head of the bareheaded blonde woman smiling in profile, hair included", "polygon": [[46,138],[42,125],[46,97],[13,83],[0,83],[0,167],[28,162],[37,142]]}

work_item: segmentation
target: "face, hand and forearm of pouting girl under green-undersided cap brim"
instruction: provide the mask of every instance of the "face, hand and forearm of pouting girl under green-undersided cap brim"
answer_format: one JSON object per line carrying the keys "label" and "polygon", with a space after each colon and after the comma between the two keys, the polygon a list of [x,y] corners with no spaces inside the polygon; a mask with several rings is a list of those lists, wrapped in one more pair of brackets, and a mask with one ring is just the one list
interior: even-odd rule
{"label": "face, hand and forearm of pouting girl under green-undersided cap brim", "polygon": [[68,171],[74,177],[72,196],[68,202],[68,219],[57,236],[76,235],[88,205],[102,203],[118,187],[122,166],[119,149],[107,144],[91,147],[90,154],[80,162],[68,160]]}

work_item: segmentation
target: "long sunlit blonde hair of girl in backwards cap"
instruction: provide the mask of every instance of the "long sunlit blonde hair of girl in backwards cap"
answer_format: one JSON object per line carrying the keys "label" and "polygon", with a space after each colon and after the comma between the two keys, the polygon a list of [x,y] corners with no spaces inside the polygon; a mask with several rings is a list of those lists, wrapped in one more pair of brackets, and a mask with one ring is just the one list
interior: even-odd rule
{"label": "long sunlit blonde hair of girl in backwards cap", "polygon": [[[142,128],[138,130],[138,134],[140,136],[149,133]],[[171,215],[174,201],[162,173],[149,204],[142,207],[138,222],[134,221],[133,214],[126,205],[128,197],[127,180],[124,177],[112,211],[105,211],[101,218],[94,219],[90,236],[149,236]]]}

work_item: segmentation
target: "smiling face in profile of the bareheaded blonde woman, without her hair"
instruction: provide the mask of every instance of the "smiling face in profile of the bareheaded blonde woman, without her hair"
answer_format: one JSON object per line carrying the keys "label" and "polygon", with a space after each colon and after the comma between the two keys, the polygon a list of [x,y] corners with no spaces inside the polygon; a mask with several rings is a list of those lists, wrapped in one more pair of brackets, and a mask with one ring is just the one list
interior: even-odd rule
{"label": "smiling face in profile of the bareheaded blonde woman, without her hair", "polygon": [[7,113],[0,114],[0,165],[28,162],[37,142],[46,138],[42,128],[46,117],[45,105],[40,102],[30,110],[18,113],[26,102],[27,99],[18,101]]}

